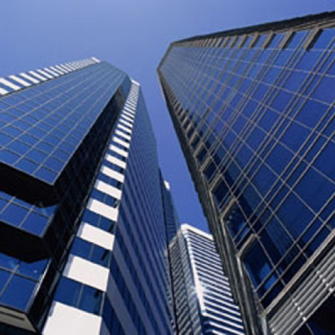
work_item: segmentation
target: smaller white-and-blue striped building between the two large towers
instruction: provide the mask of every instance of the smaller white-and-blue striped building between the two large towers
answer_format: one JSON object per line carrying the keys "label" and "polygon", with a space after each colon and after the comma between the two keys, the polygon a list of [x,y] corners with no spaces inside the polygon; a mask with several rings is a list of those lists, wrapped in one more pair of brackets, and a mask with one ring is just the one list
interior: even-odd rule
{"label": "smaller white-and-blue striped building between the two large towers", "polygon": [[244,334],[212,235],[182,224],[169,251],[177,334]]}

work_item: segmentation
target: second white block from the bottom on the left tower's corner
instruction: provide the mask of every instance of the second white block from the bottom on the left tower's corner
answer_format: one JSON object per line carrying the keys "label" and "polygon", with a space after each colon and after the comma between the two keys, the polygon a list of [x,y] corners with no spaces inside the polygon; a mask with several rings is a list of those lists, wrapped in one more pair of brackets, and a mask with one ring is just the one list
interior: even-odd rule
{"label": "second white block from the bottom on the left tower's corner", "polygon": [[81,257],[69,255],[63,276],[106,292],[109,269]]}

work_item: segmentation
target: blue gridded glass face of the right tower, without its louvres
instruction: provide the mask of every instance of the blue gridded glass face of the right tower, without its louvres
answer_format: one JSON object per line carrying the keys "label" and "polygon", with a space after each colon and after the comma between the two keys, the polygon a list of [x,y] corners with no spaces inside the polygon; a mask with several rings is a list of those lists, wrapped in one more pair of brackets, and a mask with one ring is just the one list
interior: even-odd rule
{"label": "blue gridded glass face of the right tower, without its louvres", "polygon": [[195,180],[237,250],[257,237],[243,260],[265,308],[335,227],[334,55],[335,29],[311,25],[180,41],[160,64]]}

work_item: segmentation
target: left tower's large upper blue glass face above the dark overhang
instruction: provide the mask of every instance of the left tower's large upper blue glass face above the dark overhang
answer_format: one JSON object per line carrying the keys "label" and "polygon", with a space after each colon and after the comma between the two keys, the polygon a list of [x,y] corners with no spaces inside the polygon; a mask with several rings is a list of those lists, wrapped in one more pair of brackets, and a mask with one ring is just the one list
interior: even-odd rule
{"label": "left tower's large upper blue glass face above the dark overhang", "polygon": [[0,161],[54,184],[124,79],[100,63],[1,98]]}

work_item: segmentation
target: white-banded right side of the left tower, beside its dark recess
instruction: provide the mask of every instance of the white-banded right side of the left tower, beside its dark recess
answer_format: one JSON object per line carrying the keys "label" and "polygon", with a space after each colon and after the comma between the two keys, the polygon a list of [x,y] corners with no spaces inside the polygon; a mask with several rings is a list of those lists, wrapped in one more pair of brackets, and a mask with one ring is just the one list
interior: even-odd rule
{"label": "white-banded right side of the left tower, beside its dark recess", "polygon": [[[171,333],[159,173],[147,109],[132,82],[54,296],[54,309],[102,320],[94,334]],[[96,273],[92,280],[83,272]],[[50,316],[45,334],[60,331],[63,311]]]}

